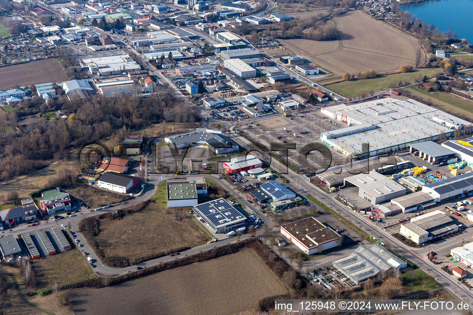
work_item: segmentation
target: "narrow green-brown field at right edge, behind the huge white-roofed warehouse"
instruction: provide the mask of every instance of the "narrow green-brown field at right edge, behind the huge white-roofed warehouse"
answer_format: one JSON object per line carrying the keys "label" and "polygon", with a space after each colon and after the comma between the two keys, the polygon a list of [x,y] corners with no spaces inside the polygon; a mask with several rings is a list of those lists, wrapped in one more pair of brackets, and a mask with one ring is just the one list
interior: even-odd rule
{"label": "narrow green-brown field at right edge, behind the huge white-roofed warehouse", "polygon": [[425,92],[415,86],[408,89],[409,93],[419,99],[431,102],[434,107],[442,111],[447,111],[452,115],[460,115],[473,119],[473,102],[446,92]]}

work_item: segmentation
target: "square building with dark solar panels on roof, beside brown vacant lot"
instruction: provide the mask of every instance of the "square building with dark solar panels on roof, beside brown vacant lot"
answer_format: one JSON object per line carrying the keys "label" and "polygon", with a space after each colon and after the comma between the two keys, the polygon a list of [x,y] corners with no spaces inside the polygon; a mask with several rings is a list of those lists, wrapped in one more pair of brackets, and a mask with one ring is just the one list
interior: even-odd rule
{"label": "square building with dark solar panels on roof, beside brown vacant lot", "polygon": [[245,218],[243,214],[223,198],[198,204],[195,208],[216,228],[220,225],[226,225]]}

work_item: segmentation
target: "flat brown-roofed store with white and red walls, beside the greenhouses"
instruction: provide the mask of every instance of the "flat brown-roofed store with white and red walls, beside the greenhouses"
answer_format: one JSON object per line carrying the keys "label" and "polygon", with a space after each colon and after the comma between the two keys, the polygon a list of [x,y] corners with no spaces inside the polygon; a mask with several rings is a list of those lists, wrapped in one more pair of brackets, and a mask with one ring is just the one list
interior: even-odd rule
{"label": "flat brown-roofed store with white and red walls, beside the greenhouses", "polygon": [[337,240],[342,238],[337,232],[315,220],[314,217],[281,225],[281,234],[307,255],[338,246]]}

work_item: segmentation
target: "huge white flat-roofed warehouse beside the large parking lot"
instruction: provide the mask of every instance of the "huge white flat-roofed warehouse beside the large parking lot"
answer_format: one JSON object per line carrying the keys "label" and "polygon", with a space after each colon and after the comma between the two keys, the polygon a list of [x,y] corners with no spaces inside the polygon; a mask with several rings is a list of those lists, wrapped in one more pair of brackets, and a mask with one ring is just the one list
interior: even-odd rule
{"label": "huge white flat-roofed warehouse beside the large parking lot", "polygon": [[469,132],[472,128],[466,120],[412,99],[387,97],[323,107],[320,111],[347,125],[320,134],[322,142],[352,158],[393,153],[412,143],[434,141],[438,135],[454,136],[457,129],[463,132],[470,128]]}

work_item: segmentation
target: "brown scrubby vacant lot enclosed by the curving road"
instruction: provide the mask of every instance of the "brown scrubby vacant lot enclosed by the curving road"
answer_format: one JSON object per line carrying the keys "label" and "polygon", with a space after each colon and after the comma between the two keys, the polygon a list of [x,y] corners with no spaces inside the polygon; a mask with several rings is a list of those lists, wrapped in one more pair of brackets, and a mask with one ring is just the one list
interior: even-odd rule
{"label": "brown scrubby vacant lot enclosed by the curving road", "polygon": [[105,257],[127,257],[130,261],[179,247],[193,247],[209,238],[184,210],[165,209],[150,202],[139,212],[123,218],[100,219],[98,246]]}

